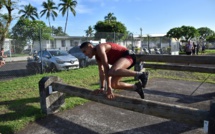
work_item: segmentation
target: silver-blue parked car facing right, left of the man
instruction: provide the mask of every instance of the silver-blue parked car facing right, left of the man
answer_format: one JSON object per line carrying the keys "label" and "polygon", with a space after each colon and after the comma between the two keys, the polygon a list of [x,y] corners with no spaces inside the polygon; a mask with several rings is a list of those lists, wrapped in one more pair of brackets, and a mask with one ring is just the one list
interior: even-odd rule
{"label": "silver-blue parked car facing right, left of the man", "polygon": [[38,56],[40,59],[42,56],[43,66],[52,72],[79,68],[78,59],[64,50],[43,50]]}

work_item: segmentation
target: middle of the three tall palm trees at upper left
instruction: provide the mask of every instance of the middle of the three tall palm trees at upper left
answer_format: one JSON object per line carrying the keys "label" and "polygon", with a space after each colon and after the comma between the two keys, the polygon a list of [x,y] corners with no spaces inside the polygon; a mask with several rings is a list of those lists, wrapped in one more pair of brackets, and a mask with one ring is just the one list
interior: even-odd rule
{"label": "middle of the three tall palm trees at upper left", "polygon": [[49,27],[51,28],[51,23],[50,23],[50,16],[52,17],[53,20],[55,20],[55,17],[57,17],[57,12],[55,10],[58,9],[58,7],[55,6],[55,3],[52,0],[47,0],[47,2],[43,2],[42,4],[44,10],[40,12],[42,17],[44,14],[46,14],[46,19],[49,21]]}

